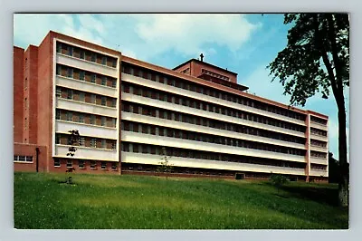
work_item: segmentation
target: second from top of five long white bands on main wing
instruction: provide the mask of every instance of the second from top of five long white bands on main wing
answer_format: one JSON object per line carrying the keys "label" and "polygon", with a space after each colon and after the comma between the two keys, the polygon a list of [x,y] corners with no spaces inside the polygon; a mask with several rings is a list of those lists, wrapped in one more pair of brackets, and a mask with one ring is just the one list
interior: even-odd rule
{"label": "second from top of five long white bands on main wing", "polygon": [[146,98],[146,97],[142,97],[139,95],[130,94],[130,93],[126,93],[126,92],[121,93],[121,99],[123,101],[132,101],[132,102],[136,102],[136,103],[140,103],[140,104],[150,105],[150,106],[157,107],[157,108],[167,109],[170,111],[178,111],[178,112],[197,115],[197,116],[201,116],[201,117],[205,117],[205,118],[211,118],[214,120],[222,120],[224,122],[251,126],[251,127],[259,128],[262,130],[271,130],[271,131],[281,132],[284,134],[302,137],[302,138],[305,137],[305,133],[302,133],[299,131],[288,130],[288,129],[284,129],[284,128],[280,128],[280,127],[276,127],[276,126],[262,124],[262,123],[255,122],[252,120],[243,120],[240,118],[226,116],[223,114],[218,114],[218,113],[214,113],[214,112],[210,112],[210,111],[198,110],[195,108],[186,107],[184,105],[169,103],[167,101],[158,101],[158,100],[154,100],[154,99],[150,99],[150,98]]}

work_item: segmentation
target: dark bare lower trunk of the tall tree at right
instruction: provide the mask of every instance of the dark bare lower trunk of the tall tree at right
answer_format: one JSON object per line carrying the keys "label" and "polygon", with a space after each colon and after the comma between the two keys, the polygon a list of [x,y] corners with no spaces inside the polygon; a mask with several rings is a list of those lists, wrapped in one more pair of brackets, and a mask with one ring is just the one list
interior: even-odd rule
{"label": "dark bare lower trunk of the tall tree at right", "polygon": [[338,103],[338,152],[339,152],[339,206],[348,207],[349,203],[349,167],[347,162],[346,108],[342,96]]}

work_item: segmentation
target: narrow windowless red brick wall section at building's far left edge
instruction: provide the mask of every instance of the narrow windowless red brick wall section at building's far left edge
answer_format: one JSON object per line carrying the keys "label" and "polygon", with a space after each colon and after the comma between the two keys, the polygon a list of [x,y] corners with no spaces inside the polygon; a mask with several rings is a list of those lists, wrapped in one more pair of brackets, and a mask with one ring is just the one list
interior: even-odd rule
{"label": "narrow windowless red brick wall section at building's far left edge", "polygon": [[14,142],[23,140],[24,49],[14,47]]}

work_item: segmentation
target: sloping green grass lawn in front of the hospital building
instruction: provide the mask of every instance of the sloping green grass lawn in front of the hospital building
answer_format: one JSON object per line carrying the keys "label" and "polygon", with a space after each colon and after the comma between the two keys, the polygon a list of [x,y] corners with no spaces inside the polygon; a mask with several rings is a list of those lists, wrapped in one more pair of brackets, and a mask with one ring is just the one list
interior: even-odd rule
{"label": "sloping green grass lawn in front of the hospital building", "polygon": [[15,228],[348,228],[338,187],[268,181],[14,173]]}

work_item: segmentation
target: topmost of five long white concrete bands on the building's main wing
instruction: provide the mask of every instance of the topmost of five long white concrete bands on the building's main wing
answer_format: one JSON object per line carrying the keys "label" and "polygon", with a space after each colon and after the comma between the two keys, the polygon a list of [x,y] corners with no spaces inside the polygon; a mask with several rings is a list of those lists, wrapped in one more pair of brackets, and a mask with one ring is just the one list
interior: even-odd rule
{"label": "topmost of five long white concrete bands on the building's main wing", "polygon": [[234,109],[237,109],[237,110],[248,111],[250,113],[271,117],[271,118],[276,119],[276,120],[284,120],[284,121],[288,121],[288,122],[291,122],[291,123],[294,123],[294,124],[299,124],[299,125],[302,125],[302,126],[306,125],[304,120],[296,120],[296,119],[286,117],[286,116],[283,116],[283,115],[280,115],[280,114],[272,113],[272,112],[269,112],[269,111],[262,111],[262,110],[259,110],[259,109],[256,109],[256,108],[245,106],[245,105],[235,103],[235,102],[232,102],[232,101],[225,101],[225,100],[215,98],[215,97],[212,97],[212,96],[208,96],[208,95],[205,95],[205,94],[202,94],[202,93],[191,92],[191,91],[187,91],[187,90],[184,90],[184,89],[181,89],[181,88],[170,86],[170,85],[167,85],[167,84],[164,84],[164,83],[153,82],[153,81],[150,81],[148,79],[133,76],[131,74],[124,73],[124,72],[122,72],[122,81],[142,84],[142,85],[147,86],[149,88],[157,89],[157,90],[160,90],[160,91],[181,94],[181,95],[189,97],[189,98],[194,98],[194,99],[197,99],[197,100],[200,100],[200,101],[207,101],[207,102],[211,102],[211,103],[216,103],[216,104],[220,104],[220,105],[223,105],[225,107],[231,107],[231,108],[234,108]]}

